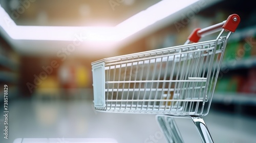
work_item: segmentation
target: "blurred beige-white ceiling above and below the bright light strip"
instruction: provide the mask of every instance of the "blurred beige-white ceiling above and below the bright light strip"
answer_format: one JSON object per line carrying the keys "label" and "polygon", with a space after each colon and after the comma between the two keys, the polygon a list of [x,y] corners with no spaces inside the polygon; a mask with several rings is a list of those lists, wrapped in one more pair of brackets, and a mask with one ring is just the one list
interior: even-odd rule
{"label": "blurred beige-white ceiling above and below the bright light strip", "polygon": [[[14,19],[15,23],[11,23],[11,26],[99,26],[104,23],[104,26],[116,26],[121,21],[133,16],[134,14],[145,10],[146,8],[154,5],[158,1],[132,1],[132,0],[113,0],[113,1],[100,1],[98,3],[95,0],[91,1],[35,1],[27,0],[30,4],[28,8],[22,8],[25,4],[15,6],[16,0],[1,1],[1,6],[5,12]],[[9,2],[9,3],[8,3]],[[112,5],[110,5],[112,2]],[[120,2],[120,3],[117,3]],[[173,1],[177,3],[177,1]],[[12,4],[11,4],[12,3]],[[211,5],[214,2],[208,2],[207,5]],[[116,4],[116,5],[113,5]],[[13,6],[14,5],[14,6]],[[113,7],[114,6],[114,7]],[[9,8],[8,8],[9,7]],[[11,8],[14,8],[12,10]],[[205,6],[207,7],[207,6]],[[16,9],[15,9],[16,8]],[[17,9],[18,8],[18,9]],[[38,9],[35,9],[38,8]],[[31,10],[32,9],[32,10]],[[13,18],[13,13],[18,12],[20,14],[17,18]],[[44,12],[42,12],[44,11]],[[79,16],[73,17],[78,11]],[[157,21],[151,26],[137,32],[136,34],[129,36],[121,41],[82,41],[75,46],[74,51],[65,51],[73,41],[65,40],[29,40],[29,39],[12,39],[5,29],[0,27],[1,34],[7,39],[7,41],[14,47],[14,49],[22,55],[38,55],[38,56],[60,56],[61,54],[72,54],[77,56],[86,57],[110,57],[116,56],[117,49],[124,47],[148,34],[151,34],[163,27],[170,25],[170,23],[180,18],[180,14],[186,12],[187,9],[183,9],[175,14],[169,15],[166,18]],[[37,13],[37,14],[34,14]],[[95,12],[95,13],[94,13]],[[42,14],[43,13],[43,14]],[[73,13],[73,14],[69,14]],[[118,14],[117,14],[118,13]],[[157,13],[157,12],[156,12]],[[152,16],[152,15],[148,15]],[[3,16],[1,16],[3,17]],[[84,19],[85,22],[83,22]],[[6,22],[6,19],[4,19]],[[3,19],[2,19],[3,21]],[[1,21],[0,21],[1,22]],[[27,34],[25,31],[20,32],[20,35]],[[33,31],[32,31],[33,32]],[[51,36],[51,31],[47,31]],[[64,32],[65,33],[65,32]],[[76,33],[79,35],[79,33]]]}

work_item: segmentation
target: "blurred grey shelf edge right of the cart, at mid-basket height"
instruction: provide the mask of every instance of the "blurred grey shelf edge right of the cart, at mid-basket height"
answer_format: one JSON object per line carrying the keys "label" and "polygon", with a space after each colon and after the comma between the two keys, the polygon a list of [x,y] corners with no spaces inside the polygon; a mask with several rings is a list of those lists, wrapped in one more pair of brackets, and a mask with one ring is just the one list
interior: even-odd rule
{"label": "blurred grey shelf edge right of the cart, at mid-basket height", "polygon": [[240,68],[251,68],[251,67],[256,67],[256,56],[246,58],[246,59],[241,59],[241,60],[236,60],[234,59],[233,61],[230,62],[224,62],[221,64],[221,70],[234,70],[234,69],[240,69]]}

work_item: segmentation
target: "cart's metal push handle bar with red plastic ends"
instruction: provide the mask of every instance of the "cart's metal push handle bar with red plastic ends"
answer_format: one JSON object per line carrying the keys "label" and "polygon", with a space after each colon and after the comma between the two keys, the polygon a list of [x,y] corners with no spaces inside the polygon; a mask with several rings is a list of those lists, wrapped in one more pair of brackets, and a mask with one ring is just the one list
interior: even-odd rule
{"label": "cart's metal push handle bar with red plastic ends", "polygon": [[236,31],[238,25],[240,22],[240,17],[237,14],[231,14],[228,16],[227,20],[218,23],[216,25],[201,29],[196,28],[189,36],[188,40],[191,42],[198,42],[201,37],[204,37],[205,35],[209,35],[218,31],[221,31],[222,29],[225,29],[226,31],[234,32]]}

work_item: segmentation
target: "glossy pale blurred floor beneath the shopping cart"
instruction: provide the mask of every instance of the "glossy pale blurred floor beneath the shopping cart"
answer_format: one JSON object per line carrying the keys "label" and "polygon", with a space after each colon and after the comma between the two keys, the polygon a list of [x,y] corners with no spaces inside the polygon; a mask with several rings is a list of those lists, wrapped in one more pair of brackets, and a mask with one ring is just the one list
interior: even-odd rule
{"label": "glossy pale blurred floor beneath the shopping cart", "polygon": [[[1,113],[3,109],[1,107]],[[203,117],[215,142],[256,142],[256,118],[210,110]],[[3,121],[1,116],[0,120]],[[91,100],[9,101],[8,133],[15,138],[114,138],[120,143],[166,142],[155,115],[96,112]],[[200,142],[190,120],[178,120],[185,142]],[[58,141],[65,142],[65,141]],[[68,142],[68,141],[67,141]]]}

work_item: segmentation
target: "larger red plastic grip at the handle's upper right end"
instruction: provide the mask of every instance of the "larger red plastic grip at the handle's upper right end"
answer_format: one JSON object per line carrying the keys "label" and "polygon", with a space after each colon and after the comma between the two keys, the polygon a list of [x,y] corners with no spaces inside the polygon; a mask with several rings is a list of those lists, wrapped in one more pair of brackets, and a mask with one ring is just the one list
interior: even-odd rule
{"label": "larger red plastic grip at the handle's upper right end", "polygon": [[231,14],[228,16],[227,21],[223,25],[223,29],[234,32],[236,31],[240,23],[240,17],[237,14]]}

